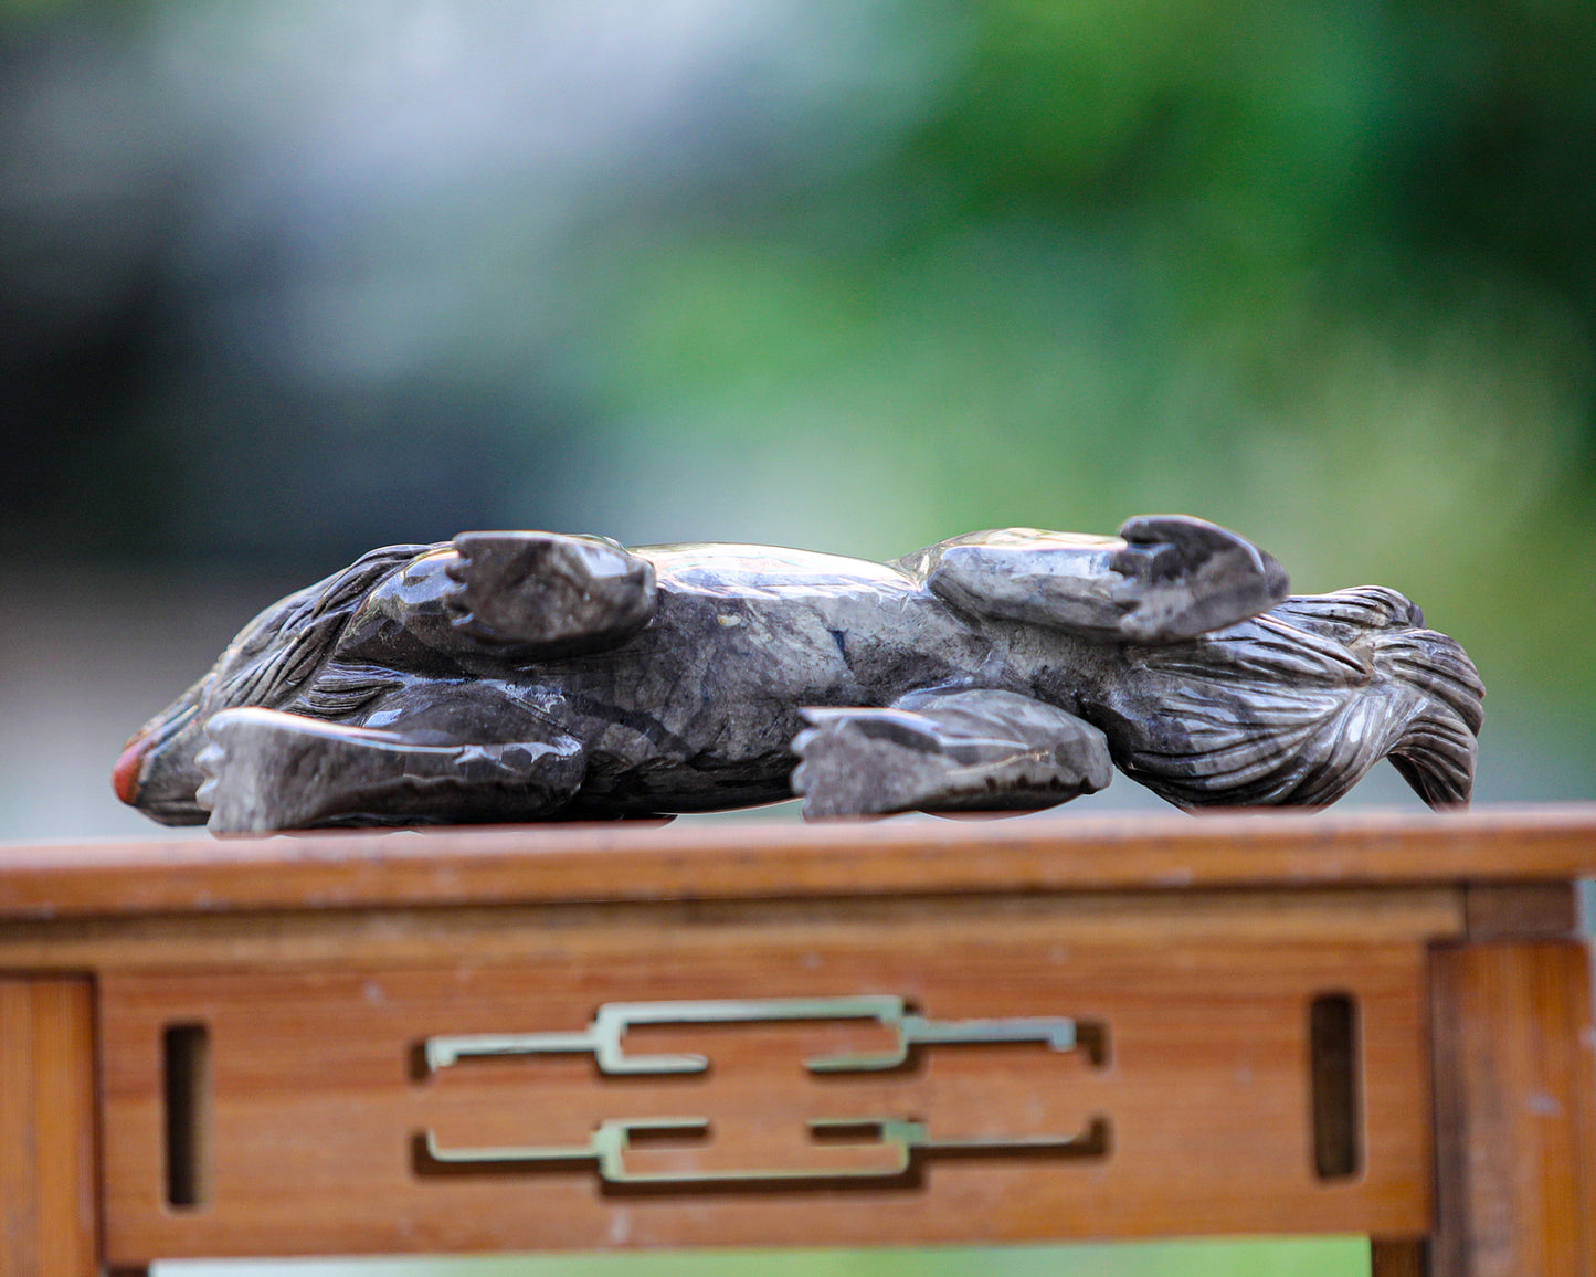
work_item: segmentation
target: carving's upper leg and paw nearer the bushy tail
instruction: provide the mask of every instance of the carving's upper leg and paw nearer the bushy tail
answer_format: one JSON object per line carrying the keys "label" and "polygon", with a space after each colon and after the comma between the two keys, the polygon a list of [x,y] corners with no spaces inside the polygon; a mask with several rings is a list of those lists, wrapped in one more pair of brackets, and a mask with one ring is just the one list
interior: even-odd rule
{"label": "carving's upper leg and paw nearer the bushy tail", "polygon": [[1178,643],[1286,597],[1286,573],[1234,532],[1181,514],[1132,519],[1119,536],[1004,528],[902,560],[964,611],[1103,643]]}

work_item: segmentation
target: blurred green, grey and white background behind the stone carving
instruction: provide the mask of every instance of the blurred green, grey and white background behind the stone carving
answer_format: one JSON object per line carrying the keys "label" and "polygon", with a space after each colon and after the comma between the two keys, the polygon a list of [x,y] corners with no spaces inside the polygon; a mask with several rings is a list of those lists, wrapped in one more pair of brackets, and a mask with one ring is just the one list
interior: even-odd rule
{"label": "blurred green, grey and white background behind the stone carving", "polygon": [[1586,0],[0,0],[0,838],[155,832],[109,768],[249,616],[492,527],[1200,514],[1464,640],[1479,800],[1596,797],[1593,65]]}

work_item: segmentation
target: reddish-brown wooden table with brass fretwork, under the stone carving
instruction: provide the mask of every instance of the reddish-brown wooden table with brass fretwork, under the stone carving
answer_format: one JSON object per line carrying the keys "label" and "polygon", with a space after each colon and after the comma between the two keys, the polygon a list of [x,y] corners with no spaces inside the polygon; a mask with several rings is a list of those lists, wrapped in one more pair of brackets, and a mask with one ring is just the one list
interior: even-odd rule
{"label": "reddish-brown wooden table with brass fretwork, under the stone carving", "polygon": [[1365,1234],[1596,1272],[1596,805],[0,849],[0,1271]]}

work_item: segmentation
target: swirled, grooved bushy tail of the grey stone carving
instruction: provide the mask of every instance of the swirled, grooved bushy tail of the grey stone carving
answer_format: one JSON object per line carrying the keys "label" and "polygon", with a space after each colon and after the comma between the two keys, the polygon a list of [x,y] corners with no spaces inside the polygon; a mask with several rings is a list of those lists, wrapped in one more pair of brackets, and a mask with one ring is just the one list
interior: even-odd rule
{"label": "swirled, grooved bushy tail of the grey stone carving", "polygon": [[1087,717],[1119,768],[1176,806],[1325,806],[1385,757],[1432,808],[1473,789],[1479,675],[1393,589],[1288,599],[1138,648],[1112,682]]}

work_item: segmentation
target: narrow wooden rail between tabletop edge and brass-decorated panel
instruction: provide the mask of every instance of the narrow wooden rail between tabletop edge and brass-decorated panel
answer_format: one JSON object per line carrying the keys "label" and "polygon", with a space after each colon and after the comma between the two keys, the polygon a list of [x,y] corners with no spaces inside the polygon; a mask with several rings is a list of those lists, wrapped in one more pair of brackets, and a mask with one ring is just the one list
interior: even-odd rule
{"label": "narrow wooden rail between tabletop edge and brass-decorated panel", "polygon": [[629,950],[669,953],[696,929],[725,953],[780,934],[824,951],[860,927],[961,926],[1052,943],[1061,932],[1093,945],[1392,943],[1464,934],[1452,888],[1310,891],[1149,891],[1071,895],[907,895],[835,900],[662,900],[645,905],[460,905],[452,908],[190,913],[13,921],[0,927],[0,971],[231,971],[327,966],[602,961]]}

